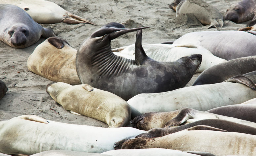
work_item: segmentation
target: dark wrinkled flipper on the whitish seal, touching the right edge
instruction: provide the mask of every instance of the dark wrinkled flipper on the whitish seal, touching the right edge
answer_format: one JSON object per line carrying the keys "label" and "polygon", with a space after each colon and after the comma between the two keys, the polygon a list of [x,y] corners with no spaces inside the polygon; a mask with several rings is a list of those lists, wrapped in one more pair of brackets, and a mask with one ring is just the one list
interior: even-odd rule
{"label": "dark wrinkled flipper on the whitish seal, touching the right edge", "polygon": [[248,87],[250,87],[253,90],[256,90],[256,85],[254,84],[254,82],[249,79],[248,77],[244,76],[244,75],[237,75],[237,76],[233,76],[223,82],[237,82],[240,84],[244,84]]}

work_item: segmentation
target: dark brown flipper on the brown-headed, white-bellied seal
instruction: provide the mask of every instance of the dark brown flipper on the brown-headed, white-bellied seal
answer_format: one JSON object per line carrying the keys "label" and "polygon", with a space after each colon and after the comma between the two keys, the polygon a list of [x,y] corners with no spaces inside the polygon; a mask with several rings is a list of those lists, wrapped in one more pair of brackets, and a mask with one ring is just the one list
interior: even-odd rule
{"label": "dark brown flipper on the brown-headed, white-bellied seal", "polygon": [[194,118],[192,113],[193,113],[192,108],[186,108],[186,107],[180,108],[178,115],[173,119],[171,119],[170,121],[166,122],[164,125],[164,128],[180,125],[186,122],[188,119]]}

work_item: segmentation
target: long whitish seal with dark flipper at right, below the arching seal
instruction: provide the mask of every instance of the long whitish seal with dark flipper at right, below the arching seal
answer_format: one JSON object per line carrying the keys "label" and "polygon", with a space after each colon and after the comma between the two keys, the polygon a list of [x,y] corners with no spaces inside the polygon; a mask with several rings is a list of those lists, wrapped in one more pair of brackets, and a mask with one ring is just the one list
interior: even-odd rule
{"label": "long whitish seal with dark flipper at right, below the arching seal", "polygon": [[256,97],[256,91],[254,91],[256,86],[249,78],[239,76],[235,79],[238,83],[228,80],[232,82],[189,86],[168,92],[136,95],[127,101],[131,106],[131,118],[147,112],[174,111],[181,107],[207,111],[220,106],[240,104]]}

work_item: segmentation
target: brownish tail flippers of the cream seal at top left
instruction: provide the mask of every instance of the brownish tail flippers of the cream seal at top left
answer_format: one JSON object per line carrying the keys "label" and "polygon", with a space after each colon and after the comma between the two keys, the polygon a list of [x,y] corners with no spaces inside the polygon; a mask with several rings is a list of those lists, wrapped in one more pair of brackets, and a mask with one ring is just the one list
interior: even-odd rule
{"label": "brownish tail flippers of the cream seal at top left", "polygon": [[82,17],[79,17],[73,13],[67,12],[68,18],[65,18],[62,22],[67,24],[79,24],[79,23],[87,23],[92,25],[97,25],[96,23],[92,22],[89,19],[84,19]]}

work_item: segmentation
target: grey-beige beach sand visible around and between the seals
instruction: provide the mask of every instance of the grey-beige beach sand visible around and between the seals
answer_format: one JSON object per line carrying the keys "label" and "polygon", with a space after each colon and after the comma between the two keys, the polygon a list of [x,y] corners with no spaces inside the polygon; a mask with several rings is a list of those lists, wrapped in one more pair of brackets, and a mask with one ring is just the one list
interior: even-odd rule
{"label": "grey-beige beach sand visible around and between the seals", "polygon": [[[182,35],[193,31],[237,30],[245,27],[249,22],[236,24],[224,21],[222,28],[202,26],[187,18],[177,19],[175,12],[169,8],[170,0],[50,0],[65,10],[88,18],[98,26],[89,24],[69,25],[65,23],[41,24],[51,27],[55,35],[66,39],[69,44],[78,49],[80,44],[95,30],[109,22],[124,24],[127,28],[149,26],[144,29],[142,43],[162,43],[174,41]],[[205,0],[215,6],[223,15],[226,9],[240,0]],[[128,33],[114,39],[112,48],[118,48],[135,43],[136,32]],[[0,79],[8,87],[7,94],[0,100],[0,121],[8,120],[25,114],[38,115],[48,120],[108,127],[107,124],[85,116],[78,116],[64,110],[47,94],[46,85],[52,81],[38,76],[27,69],[27,59],[37,45],[45,38],[41,38],[34,45],[24,49],[14,49],[0,42]],[[196,74],[187,86],[190,86]]]}

